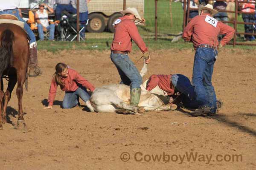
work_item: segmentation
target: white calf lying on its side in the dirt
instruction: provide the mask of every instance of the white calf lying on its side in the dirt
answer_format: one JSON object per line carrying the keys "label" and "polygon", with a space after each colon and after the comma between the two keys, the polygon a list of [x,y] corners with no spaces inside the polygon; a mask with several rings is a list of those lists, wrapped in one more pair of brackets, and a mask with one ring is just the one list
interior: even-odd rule
{"label": "white calf lying on its side in the dirt", "polygon": [[[144,64],[140,75],[143,77],[147,72],[147,65]],[[175,105],[167,105],[169,100],[165,92],[158,86],[151,92],[145,90],[146,82],[141,85],[142,91],[139,106],[144,107],[145,111],[164,111],[174,110]],[[130,87],[128,85],[105,85],[96,88],[87,102],[87,107],[91,112],[117,112],[117,113],[141,113],[142,107],[130,106]]]}

